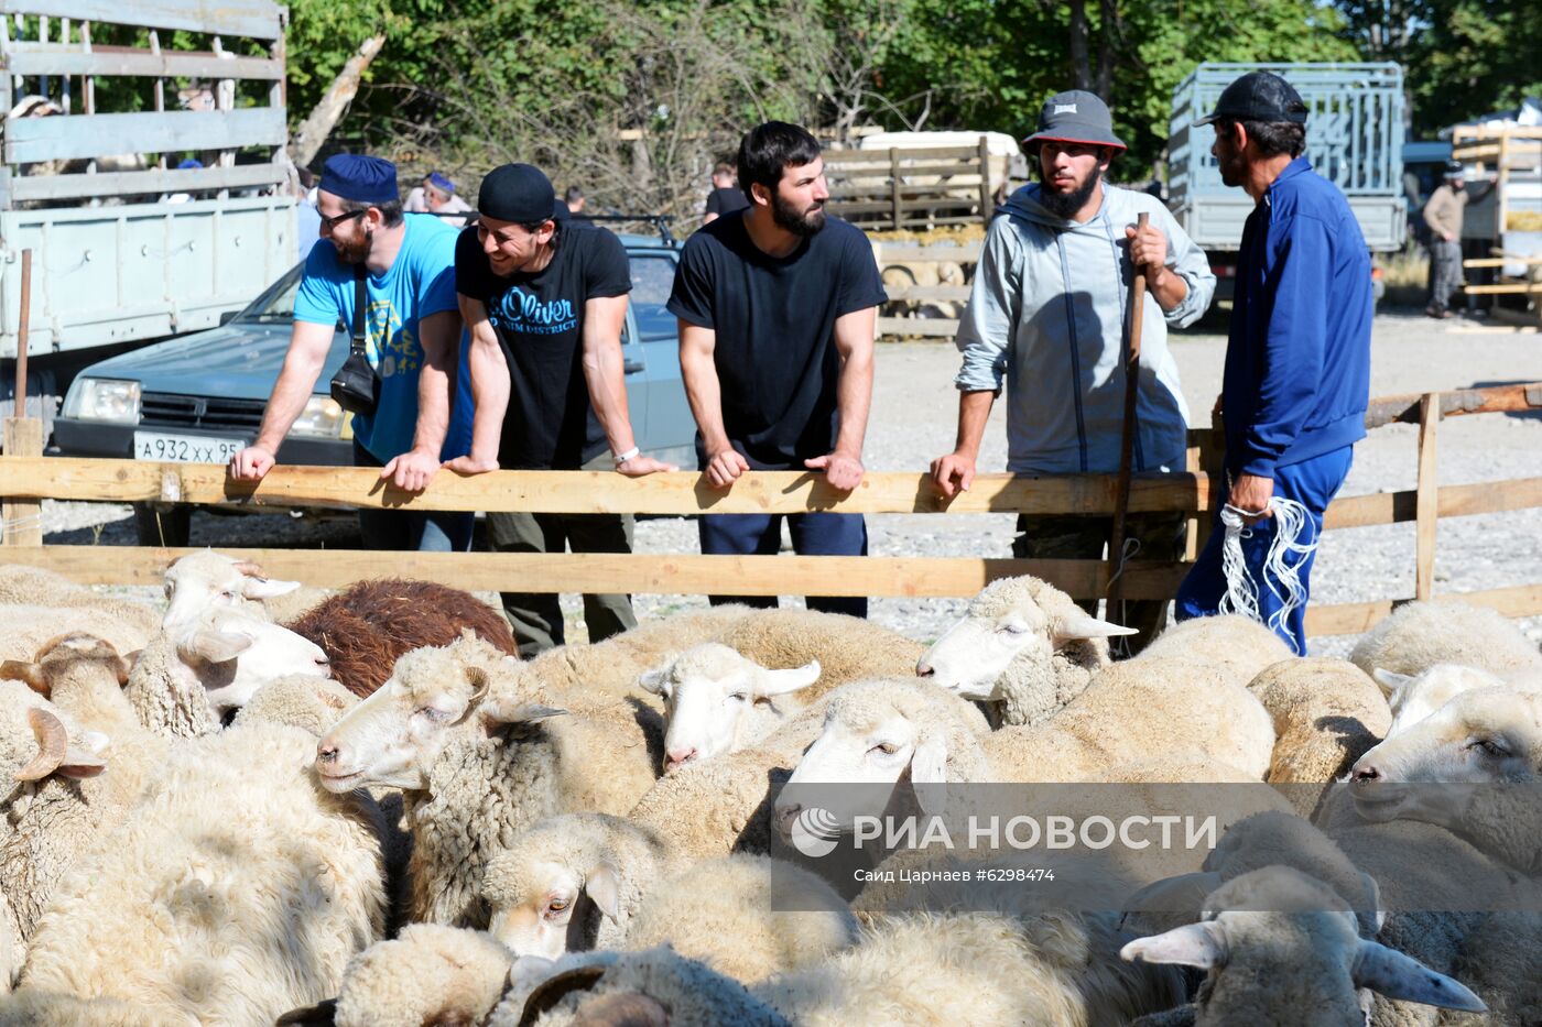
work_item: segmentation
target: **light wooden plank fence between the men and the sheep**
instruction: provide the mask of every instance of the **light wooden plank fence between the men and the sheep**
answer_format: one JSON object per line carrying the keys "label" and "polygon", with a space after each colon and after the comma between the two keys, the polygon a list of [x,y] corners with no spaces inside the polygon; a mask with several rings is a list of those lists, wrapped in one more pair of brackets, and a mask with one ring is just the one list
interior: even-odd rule
{"label": "light wooden plank fence between the men and the sheep", "polygon": [[[1332,530],[1414,521],[1416,595],[1368,603],[1312,606],[1308,632],[1359,634],[1408,598],[1434,594],[1436,527],[1442,517],[1497,514],[1542,506],[1542,478],[1439,487],[1436,429],[1442,416],[1542,409],[1542,382],[1422,396],[1389,396],[1371,404],[1369,427],[1417,423],[1419,484],[1409,492],[1349,497],[1326,517]],[[1212,432],[1195,432],[1190,472],[1136,476],[1133,512],[1187,512],[1207,526],[1223,498],[1217,480],[1200,467],[1217,466]],[[1089,514],[1107,515],[1115,503],[1113,475],[981,475],[944,503],[930,478],[914,472],[874,472],[850,493],[830,490],[806,472],[757,472],[728,492],[695,473],[631,480],[598,472],[493,472],[461,478],[443,473],[421,493],[401,492],[367,467],[276,467],[258,484],[234,483],[217,464],[162,464],[133,460],[0,456],[0,497],[6,524],[0,563],[48,567],[89,584],[159,584],[168,560],[188,549],[43,546],[35,512],[42,498],[111,503],[168,501],[237,506],[369,506],[416,510],[529,510],[584,514]],[[1005,547],[1005,538],[1001,540]],[[1007,575],[1033,574],[1078,598],[1103,595],[1109,564],[1101,560],[1005,560],[975,557],[703,557],[682,554],[427,554],[370,551],[231,549],[276,577],[338,588],[382,574],[418,577],[472,591],[645,592],[742,595],[962,597]],[[1170,597],[1187,563],[1132,563],[1127,598]],[[1462,598],[1520,617],[1542,614],[1542,583],[1466,592]]]}

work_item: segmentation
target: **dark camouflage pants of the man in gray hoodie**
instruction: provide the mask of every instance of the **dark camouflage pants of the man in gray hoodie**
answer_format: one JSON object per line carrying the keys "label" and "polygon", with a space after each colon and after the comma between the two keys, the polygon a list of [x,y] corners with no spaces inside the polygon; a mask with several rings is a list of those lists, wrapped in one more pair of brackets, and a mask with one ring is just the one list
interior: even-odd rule
{"label": "dark camouflage pants of the man in gray hoodie", "polygon": [[[1018,537],[1012,540],[1012,555],[1019,560],[1101,560],[1109,547],[1110,517],[1018,515]],[[1187,518],[1183,514],[1132,514],[1124,521],[1126,540],[1140,541],[1132,560],[1183,560],[1187,540]],[[1126,543],[1127,544],[1127,543]],[[1121,609],[1106,614],[1115,625],[1135,628],[1140,634],[1110,638],[1110,648],[1135,655],[1167,625],[1169,600],[1121,600]],[[1078,603],[1098,615],[1098,600]]]}

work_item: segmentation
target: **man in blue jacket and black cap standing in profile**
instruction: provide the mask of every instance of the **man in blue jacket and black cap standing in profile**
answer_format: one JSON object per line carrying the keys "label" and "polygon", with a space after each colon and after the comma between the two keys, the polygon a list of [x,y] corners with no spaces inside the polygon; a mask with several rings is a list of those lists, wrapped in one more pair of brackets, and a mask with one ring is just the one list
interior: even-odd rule
{"label": "man in blue jacket and black cap standing in profile", "polygon": [[[1371,258],[1343,193],[1301,157],[1306,105],[1284,79],[1246,74],[1221,93],[1200,125],[1215,125],[1210,153],[1221,180],[1257,207],[1243,228],[1221,416],[1226,423],[1227,504],[1254,514],[1243,557],[1268,621],[1283,586],[1264,574],[1274,541],[1269,504],[1294,500],[1315,543],[1365,438],[1371,392]],[[1178,620],[1215,614],[1226,594],[1220,526],[1178,589]],[[1312,554],[1286,557],[1309,588]],[[1275,625],[1306,652],[1305,601]]]}

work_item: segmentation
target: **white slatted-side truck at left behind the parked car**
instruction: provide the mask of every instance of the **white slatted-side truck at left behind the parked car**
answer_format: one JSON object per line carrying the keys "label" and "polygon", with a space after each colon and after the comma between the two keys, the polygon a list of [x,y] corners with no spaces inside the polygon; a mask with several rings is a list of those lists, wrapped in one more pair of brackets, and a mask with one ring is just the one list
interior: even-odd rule
{"label": "white slatted-side truck at left behind the parked car", "polygon": [[216,327],[295,264],[287,19],[270,0],[0,0],[0,412],[23,251],[23,409],[45,433],[82,367]]}

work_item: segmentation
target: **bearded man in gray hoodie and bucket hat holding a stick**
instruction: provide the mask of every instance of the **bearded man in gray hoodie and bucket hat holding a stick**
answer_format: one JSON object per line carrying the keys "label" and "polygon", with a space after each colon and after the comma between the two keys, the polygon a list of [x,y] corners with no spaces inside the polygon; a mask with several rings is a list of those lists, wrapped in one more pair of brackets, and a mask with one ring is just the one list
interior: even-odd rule
{"label": "bearded man in gray hoodie and bucket hat holding a stick", "polygon": [[[1167,325],[1200,319],[1215,293],[1204,251],[1147,193],[1107,185],[1103,176],[1124,143],[1109,108],[1092,93],[1050,97],[1039,128],[1022,140],[1039,182],[996,211],[975,270],[956,345],[964,367],[959,430],[951,453],[931,463],[938,489],[953,497],[975,480],[992,404],[1007,382],[1007,470],[1033,475],[1113,473],[1124,424],[1124,347],[1136,265],[1146,274],[1135,452],[1141,470],[1183,470],[1189,410]],[[1150,224],[1136,231],[1136,216]],[[1181,514],[1130,517],[1126,552],[1135,560],[1183,557]],[[1021,515],[1018,558],[1103,557],[1107,517]],[[1096,614],[1096,601],[1082,608]],[[1124,601],[1109,620],[1138,629],[1138,652],[1167,617],[1166,601]]]}

